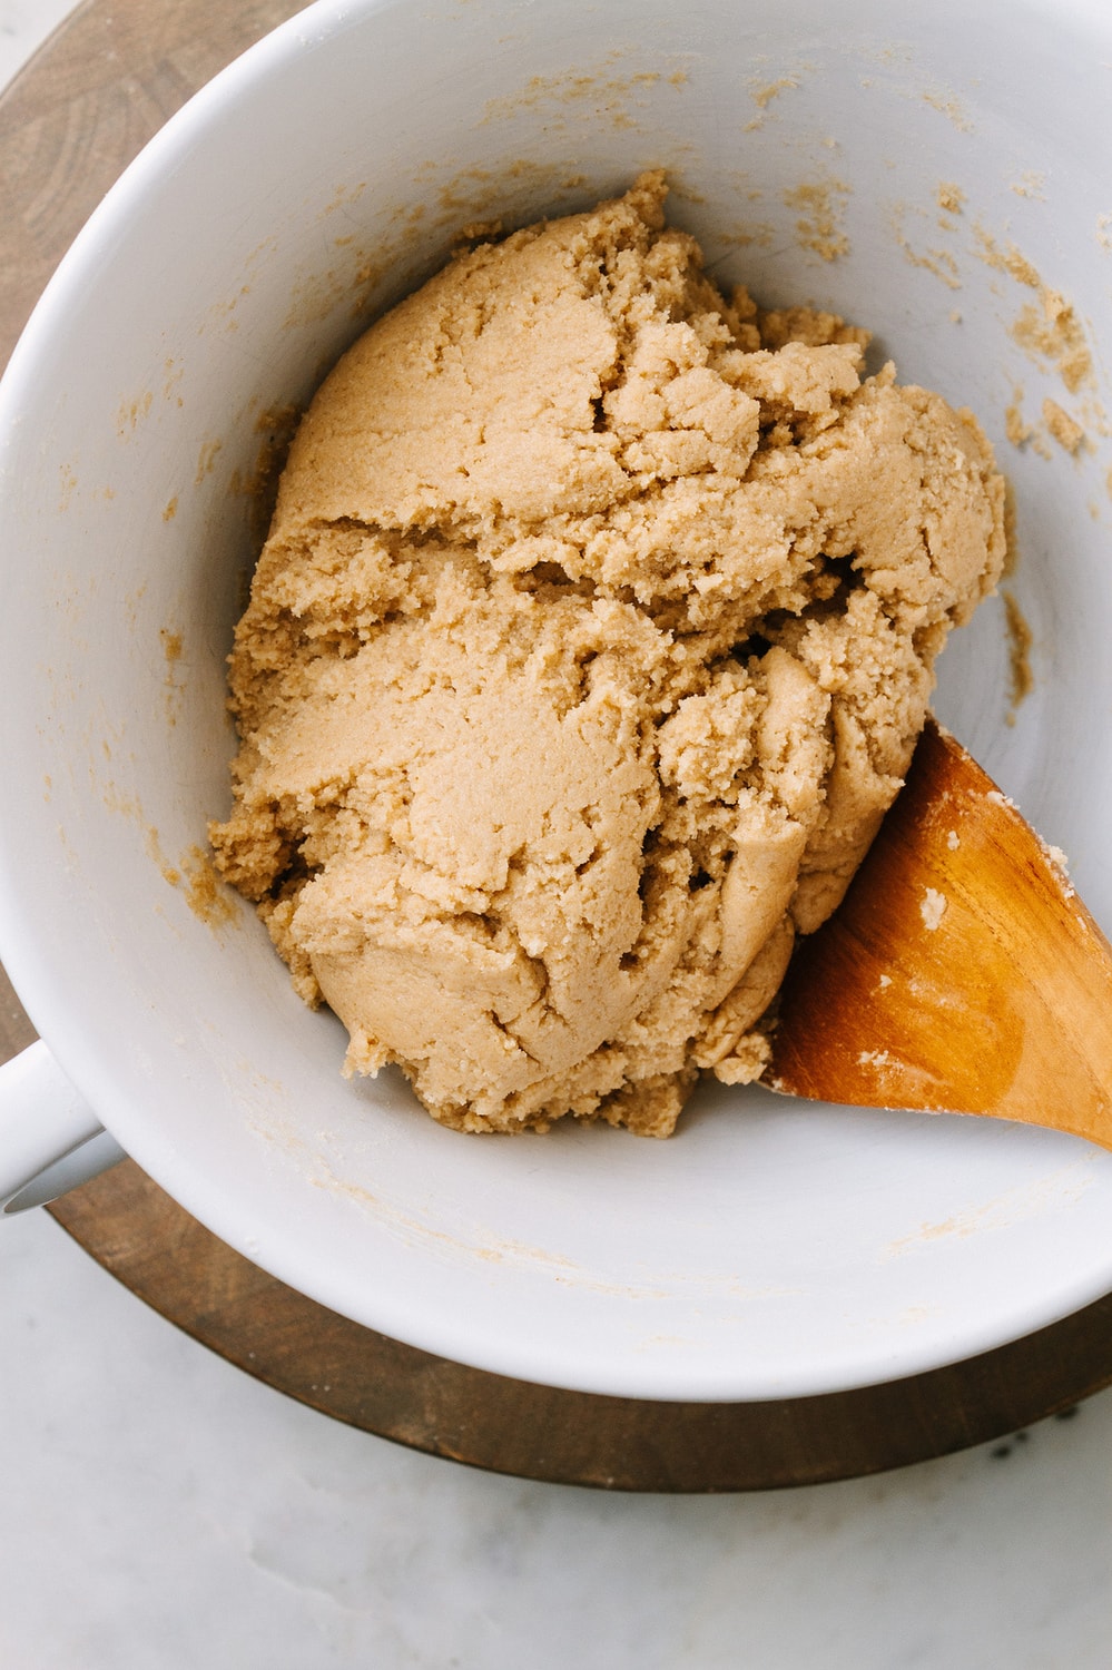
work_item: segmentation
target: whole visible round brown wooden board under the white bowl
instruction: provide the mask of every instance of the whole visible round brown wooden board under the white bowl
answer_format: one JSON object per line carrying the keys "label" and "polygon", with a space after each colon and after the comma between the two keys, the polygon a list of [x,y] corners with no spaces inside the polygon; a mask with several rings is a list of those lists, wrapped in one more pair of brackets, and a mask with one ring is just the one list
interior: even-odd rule
{"label": "whole visible round brown wooden board under the white bowl", "polygon": [[[85,0],[0,99],[0,362],[88,212],[157,127],[291,0]],[[33,1039],[0,972],[0,1059]],[[553,1391],[399,1344],[264,1274],[130,1161],[50,1207],[132,1293],[229,1363],[431,1455],[613,1490],[811,1485],[1064,1413],[1112,1384],[1112,1296],[913,1379],[776,1403]],[[2,1234],[0,1227],[0,1234]]]}

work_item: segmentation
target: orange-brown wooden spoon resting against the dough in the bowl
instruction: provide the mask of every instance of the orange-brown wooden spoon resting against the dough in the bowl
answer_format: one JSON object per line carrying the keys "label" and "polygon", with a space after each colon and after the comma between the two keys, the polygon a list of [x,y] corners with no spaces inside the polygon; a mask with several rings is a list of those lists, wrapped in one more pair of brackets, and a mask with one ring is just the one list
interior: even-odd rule
{"label": "orange-brown wooden spoon resting against the dough in the bowl", "polygon": [[843,903],[793,955],[765,1084],[1112,1147],[1112,947],[933,720]]}

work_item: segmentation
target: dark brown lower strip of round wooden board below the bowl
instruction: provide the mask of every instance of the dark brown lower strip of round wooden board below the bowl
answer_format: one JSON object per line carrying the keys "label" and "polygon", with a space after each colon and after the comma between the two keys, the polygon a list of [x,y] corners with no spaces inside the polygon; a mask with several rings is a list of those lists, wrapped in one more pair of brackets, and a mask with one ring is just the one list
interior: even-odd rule
{"label": "dark brown lower strip of round wooden board below the bowl", "polygon": [[132,1293],[269,1386],[498,1473],[730,1491],[877,1473],[1017,1431],[1112,1379],[1112,1296],[913,1379],[770,1403],[648,1403],[486,1374],[371,1333],[264,1274],[127,1162],[53,1207]]}

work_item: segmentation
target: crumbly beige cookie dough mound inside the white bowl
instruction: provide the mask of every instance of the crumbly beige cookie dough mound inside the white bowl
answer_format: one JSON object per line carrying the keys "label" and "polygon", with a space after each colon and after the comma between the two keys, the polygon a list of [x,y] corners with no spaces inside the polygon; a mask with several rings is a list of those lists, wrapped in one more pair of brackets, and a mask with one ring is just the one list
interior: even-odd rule
{"label": "crumbly beige cookie dough mound inside the white bowl", "polygon": [[459,256],[301,424],[212,828],[297,990],[436,1119],[668,1136],[768,1059],[796,932],[1003,559],[968,412],[726,301],[646,175]]}

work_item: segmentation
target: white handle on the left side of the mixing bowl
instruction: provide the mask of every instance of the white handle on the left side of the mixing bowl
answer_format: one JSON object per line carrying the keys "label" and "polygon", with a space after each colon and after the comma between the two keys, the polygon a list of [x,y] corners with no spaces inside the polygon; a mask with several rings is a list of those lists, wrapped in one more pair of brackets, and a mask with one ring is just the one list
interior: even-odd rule
{"label": "white handle on the left side of the mixing bowl", "polygon": [[0,1067],[0,1214],[57,1201],[122,1159],[42,1039]]}

